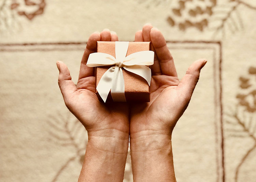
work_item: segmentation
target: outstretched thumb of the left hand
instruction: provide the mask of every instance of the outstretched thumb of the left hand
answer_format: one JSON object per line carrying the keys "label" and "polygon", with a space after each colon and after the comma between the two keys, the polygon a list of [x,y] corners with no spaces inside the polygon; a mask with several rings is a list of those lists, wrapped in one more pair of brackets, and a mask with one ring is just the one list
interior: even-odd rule
{"label": "outstretched thumb of the left hand", "polygon": [[65,104],[70,104],[70,97],[77,91],[74,82],[71,80],[70,72],[66,64],[62,61],[57,61],[57,67],[59,70],[58,84]]}

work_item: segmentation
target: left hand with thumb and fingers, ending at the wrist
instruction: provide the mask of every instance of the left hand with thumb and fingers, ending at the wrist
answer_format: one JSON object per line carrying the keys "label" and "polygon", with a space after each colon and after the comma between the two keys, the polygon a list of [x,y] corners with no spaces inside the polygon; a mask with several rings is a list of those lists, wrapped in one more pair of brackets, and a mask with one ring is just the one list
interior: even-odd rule
{"label": "left hand with thumb and fingers, ending at the wrist", "polygon": [[[71,80],[68,67],[61,61],[59,87],[68,109],[85,126],[88,136],[111,137],[116,133],[129,136],[128,105],[126,103],[102,103],[95,94],[94,68],[86,66],[89,54],[96,52],[97,41],[118,41],[115,32],[104,29],[90,35],[81,61],[77,85]],[[119,134],[118,134],[119,136]]]}

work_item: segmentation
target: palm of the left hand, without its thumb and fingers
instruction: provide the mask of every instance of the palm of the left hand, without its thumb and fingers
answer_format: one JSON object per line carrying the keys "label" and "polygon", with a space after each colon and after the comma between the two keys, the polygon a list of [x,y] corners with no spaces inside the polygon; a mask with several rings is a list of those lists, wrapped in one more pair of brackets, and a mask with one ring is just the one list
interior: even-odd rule
{"label": "palm of the left hand, without its thumb and fingers", "polygon": [[[84,86],[83,87],[80,87]],[[95,77],[84,79],[77,82],[78,105],[76,109],[79,110],[77,115],[85,118],[86,122],[83,124],[98,130],[108,128],[115,128],[122,131],[128,130],[128,106],[126,103],[105,103],[98,100],[95,94]],[[85,89],[88,88],[88,89]],[[89,90],[94,88],[94,90]],[[83,120],[82,120],[83,121]],[[124,121],[124,122],[120,122]]]}

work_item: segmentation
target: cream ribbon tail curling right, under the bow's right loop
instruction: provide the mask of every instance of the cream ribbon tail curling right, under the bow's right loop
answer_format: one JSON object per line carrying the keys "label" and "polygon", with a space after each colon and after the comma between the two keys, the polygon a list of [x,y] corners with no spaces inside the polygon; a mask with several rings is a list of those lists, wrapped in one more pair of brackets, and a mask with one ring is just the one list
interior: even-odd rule
{"label": "cream ribbon tail curling right, under the bow's right loop", "polygon": [[143,77],[148,85],[151,83],[151,69],[145,65],[132,65],[132,66],[123,66],[129,72],[135,73],[141,77]]}

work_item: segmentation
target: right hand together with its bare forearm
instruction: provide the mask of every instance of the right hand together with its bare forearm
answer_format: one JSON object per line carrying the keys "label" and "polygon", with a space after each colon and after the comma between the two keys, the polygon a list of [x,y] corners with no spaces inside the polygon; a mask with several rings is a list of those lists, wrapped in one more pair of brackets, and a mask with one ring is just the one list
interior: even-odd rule
{"label": "right hand together with its bare forearm", "polygon": [[[131,105],[130,146],[134,181],[175,181],[171,134],[188,106],[206,60],[194,62],[180,81],[161,32],[145,25],[135,41],[151,41],[151,101]],[[146,166],[140,168],[139,166]]]}

